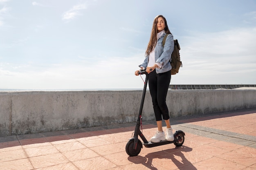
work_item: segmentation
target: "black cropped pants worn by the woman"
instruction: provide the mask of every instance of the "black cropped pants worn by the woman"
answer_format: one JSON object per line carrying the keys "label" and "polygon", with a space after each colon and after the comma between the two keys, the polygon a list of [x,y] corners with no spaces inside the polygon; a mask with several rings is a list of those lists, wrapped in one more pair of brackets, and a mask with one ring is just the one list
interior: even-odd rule
{"label": "black cropped pants worn by the woman", "polygon": [[156,121],[170,119],[168,107],[166,105],[166,96],[171,81],[171,71],[165,73],[149,73],[148,86],[155,113]]}

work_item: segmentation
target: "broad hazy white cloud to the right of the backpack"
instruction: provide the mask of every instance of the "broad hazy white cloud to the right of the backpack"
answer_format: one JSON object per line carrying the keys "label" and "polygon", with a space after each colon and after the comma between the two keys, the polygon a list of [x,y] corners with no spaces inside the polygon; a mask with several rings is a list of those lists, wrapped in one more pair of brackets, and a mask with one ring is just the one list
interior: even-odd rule
{"label": "broad hazy white cloud to the right of the backpack", "polygon": [[180,39],[183,67],[173,84],[255,84],[256,28]]}

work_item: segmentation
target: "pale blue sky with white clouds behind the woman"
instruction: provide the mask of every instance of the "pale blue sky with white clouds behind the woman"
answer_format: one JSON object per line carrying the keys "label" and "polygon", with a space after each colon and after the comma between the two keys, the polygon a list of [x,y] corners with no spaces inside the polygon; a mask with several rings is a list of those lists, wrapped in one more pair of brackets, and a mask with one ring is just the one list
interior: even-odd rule
{"label": "pale blue sky with white clouds behind the woman", "polygon": [[0,89],[141,89],[157,15],[181,48],[170,84],[256,84],[256,0],[0,0]]}

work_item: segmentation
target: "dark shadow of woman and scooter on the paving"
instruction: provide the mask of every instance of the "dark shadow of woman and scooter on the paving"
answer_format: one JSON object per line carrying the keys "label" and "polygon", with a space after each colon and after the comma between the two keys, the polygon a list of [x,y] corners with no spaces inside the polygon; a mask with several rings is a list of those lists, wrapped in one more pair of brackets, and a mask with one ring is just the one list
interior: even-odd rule
{"label": "dark shadow of woman and scooter on the paving", "polygon": [[[150,170],[157,170],[157,167],[152,165],[153,159],[170,159],[179,170],[197,170],[193,164],[186,159],[182,152],[191,152],[192,148],[187,146],[180,146],[173,149],[161,150],[158,152],[152,152],[145,157],[136,156],[136,157],[128,157],[128,160],[135,164],[142,164],[149,168]],[[177,158],[177,159],[176,159]],[[155,163],[154,163],[155,164]],[[155,164],[156,165],[156,164]],[[166,165],[166,169],[168,169]]]}

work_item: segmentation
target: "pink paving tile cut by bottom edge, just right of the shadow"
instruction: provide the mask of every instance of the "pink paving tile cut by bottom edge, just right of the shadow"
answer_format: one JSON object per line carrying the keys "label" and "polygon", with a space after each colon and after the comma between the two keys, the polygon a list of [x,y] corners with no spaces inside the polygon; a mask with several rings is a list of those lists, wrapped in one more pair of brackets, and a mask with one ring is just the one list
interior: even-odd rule
{"label": "pink paving tile cut by bottom edge, just right of the shadow", "polygon": [[195,170],[242,170],[246,168],[246,166],[216,157],[195,163],[194,166]]}

